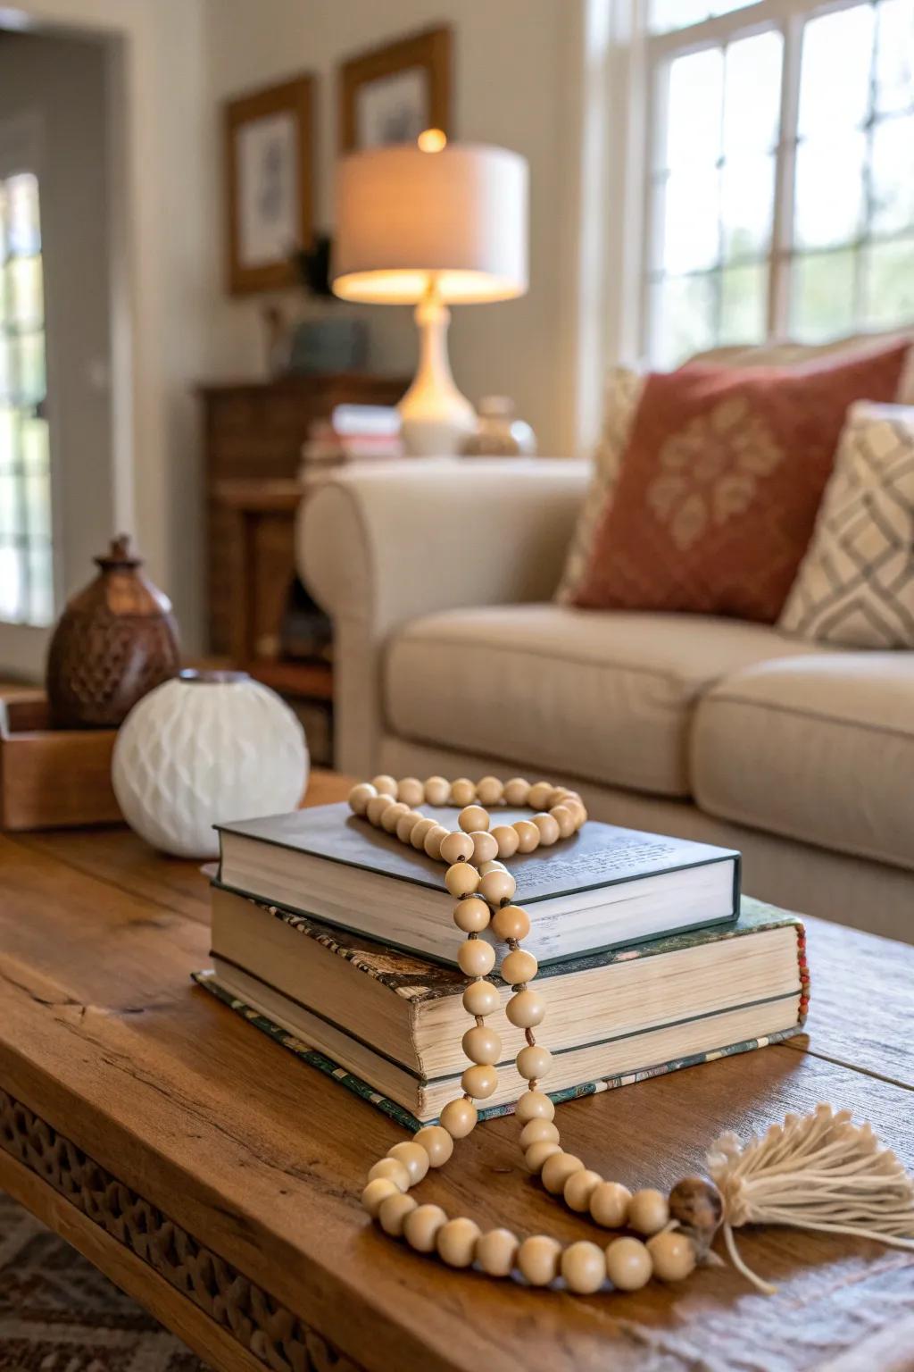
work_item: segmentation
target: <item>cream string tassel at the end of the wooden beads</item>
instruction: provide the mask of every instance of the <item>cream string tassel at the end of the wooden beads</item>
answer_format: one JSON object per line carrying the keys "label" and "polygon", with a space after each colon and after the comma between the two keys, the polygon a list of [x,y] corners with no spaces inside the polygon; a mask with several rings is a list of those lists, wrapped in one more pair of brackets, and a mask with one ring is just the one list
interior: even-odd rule
{"label": "cream string tassel at the end of the wooden beads", "polygon": [[825,1233],[852,1233],[914,1250],[914,1179],[851,1111],[819,1104],[811,1115],[788,1114],[743,1147],[725,1133],[707,1155],[724,1202],[724,1240],[733,1266],[771,1294],[776,1287],[745,1266],[733,1229],[791,1224]]}

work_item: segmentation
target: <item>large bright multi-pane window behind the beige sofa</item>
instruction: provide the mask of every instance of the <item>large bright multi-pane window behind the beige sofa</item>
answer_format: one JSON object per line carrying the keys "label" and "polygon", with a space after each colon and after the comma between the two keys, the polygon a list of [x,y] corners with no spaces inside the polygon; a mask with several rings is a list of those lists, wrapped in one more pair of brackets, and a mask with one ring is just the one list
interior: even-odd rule
{"label": "large bright multi-pane window behind the beige sofa", "polygon": [[655,365],[914,322],[914,0],[652,0]]}

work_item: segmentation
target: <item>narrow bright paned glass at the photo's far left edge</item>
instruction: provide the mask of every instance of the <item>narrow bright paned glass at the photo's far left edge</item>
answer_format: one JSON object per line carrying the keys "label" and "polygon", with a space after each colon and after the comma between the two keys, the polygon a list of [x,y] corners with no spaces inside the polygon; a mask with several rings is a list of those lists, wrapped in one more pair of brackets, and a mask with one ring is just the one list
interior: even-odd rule
{"label": "narrow bright paned glass at the photo's far left edge", "polygon": [[38,182],[0,180],[0,620],[53,619]]}

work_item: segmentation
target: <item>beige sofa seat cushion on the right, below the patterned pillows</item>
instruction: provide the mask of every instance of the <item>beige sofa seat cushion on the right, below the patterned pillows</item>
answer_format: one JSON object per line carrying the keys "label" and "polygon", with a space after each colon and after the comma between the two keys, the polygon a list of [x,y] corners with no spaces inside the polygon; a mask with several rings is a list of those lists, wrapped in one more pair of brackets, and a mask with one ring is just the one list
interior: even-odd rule
{"label": "beige sofa seat cushion on the right, below the patterned pillows", "polygon": [[702,700],[702,809],[837,852],[914,867],[914,653],[758,663]]}

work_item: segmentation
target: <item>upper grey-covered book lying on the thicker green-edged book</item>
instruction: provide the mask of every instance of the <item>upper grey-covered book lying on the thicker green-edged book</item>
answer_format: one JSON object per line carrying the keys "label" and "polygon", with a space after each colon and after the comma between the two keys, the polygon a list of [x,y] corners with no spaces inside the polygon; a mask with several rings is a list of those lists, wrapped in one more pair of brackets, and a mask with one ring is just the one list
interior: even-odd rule
{"label": "upper grey-covered book lying on the thicker green-edged book", "polygon": [[[458,814],[436,811],[448,829]],[[219,838],[223,886],[456,966],[441,864],[347,804],[222,825]],[[511,874],[540,965],[733,919],[740,900],[737,852],[595,820],[559,848],[518,853]]]}

